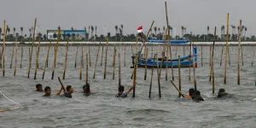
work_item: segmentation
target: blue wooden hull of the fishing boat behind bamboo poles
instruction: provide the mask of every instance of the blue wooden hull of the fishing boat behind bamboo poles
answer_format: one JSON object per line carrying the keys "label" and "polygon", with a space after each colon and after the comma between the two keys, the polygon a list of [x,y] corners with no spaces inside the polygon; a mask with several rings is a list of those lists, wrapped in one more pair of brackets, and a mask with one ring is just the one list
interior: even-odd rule
{"label": "blue wooden hull of the fishing boat behind bamboo poles", "polygon": [[[192,55],[192,54],[191,54]],[[134,67],[134,59],[135,56],[132,56],[132,63]],[[190,57],[190,55],[182,56],[180,57],[180,67],[193,67],[195,59],[195,67],[197,67],[197,49],[194,48],[194,55]],[[166,58],[163,58],[163,63],[162,63],[162,58],[148,58],[146,60],[145,58],[141,57],[141,54],[138,53],[138,62],[137,62],[137,67],[160,67],[162,64],[162,67],[178,67],[178,58],[172,59],[172,60],[167,60]]]}

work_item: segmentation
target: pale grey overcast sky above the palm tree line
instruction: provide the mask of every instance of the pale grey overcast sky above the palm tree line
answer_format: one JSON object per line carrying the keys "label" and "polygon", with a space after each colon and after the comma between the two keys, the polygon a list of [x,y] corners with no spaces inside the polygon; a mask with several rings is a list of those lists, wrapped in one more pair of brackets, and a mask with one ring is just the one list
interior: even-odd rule
{"label": "pale grey overcast sky above the palm tree line", "polygon": [[[136,33],[138,26],[148,31],[154,20],[154,26],[166,26],[164,0],[1,0],[0,20],[16,30],[24,27],[28,33],[38,18],[38,31],[46,33],[48,29],[84,29],[84,26],[97,26],[97,34],[115,32],[114,26],[124,25],[124,34]],[[213,33],[214,26],[224,25],[230,13],[230,25],[239,25],[239,20],[247,26],[247,36],[256,32],[256,0],[169,0],[167,1],[170,26],[187,27],[187,32],[206,33],[207,26]],[[19,29],[20,30],[20,29]],[[231,30],[231,29],[230,29]],[[237,29],[236,29],[237,32]]]}

